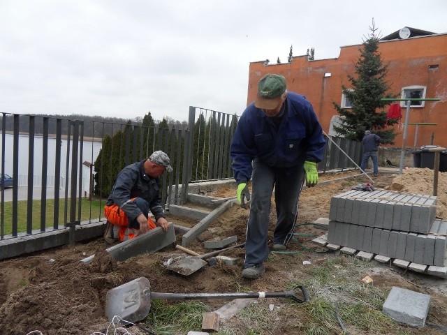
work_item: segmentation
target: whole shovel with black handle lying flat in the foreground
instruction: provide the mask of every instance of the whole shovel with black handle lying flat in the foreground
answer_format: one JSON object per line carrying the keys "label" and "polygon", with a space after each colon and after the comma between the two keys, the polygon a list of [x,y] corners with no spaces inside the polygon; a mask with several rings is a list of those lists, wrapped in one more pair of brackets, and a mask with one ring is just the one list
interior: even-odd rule
{"label": "whole shovel with black handle lying flat in the foreground", "polygon": [[[298,296],[296,292],[301,291]],[[302,285],[284,292],[247,293],[159,293],[151,292],[149,279],[140,277],[129,283],[108,290],[105,297],[105,315],[110,321],[115,316],[125,322],[136,322],[146,318],[151,308],[151,299],[191,300],[191,299],[248,299],[248,298],[290,298],[302,303],[310,300],[309,293]]]}

